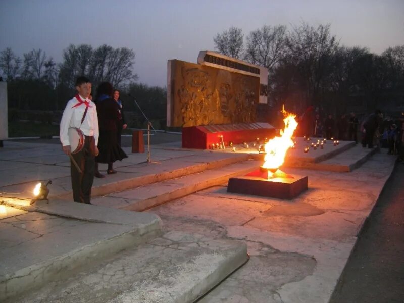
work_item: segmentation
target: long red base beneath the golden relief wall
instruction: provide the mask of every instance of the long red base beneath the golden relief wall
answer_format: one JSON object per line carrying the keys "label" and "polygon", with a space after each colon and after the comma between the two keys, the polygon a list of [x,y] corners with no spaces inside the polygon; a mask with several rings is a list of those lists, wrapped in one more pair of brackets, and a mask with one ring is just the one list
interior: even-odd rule
{"label": "long red base beneath the golden relief wall", "polygon": [[240,123],[200,125],[182,128],[182,147],[209,149],[212,144],[221,143],[221,136],[226,146],[229,142],[240,144],[260,139],[272,139],[275,128],[269,123]]}

